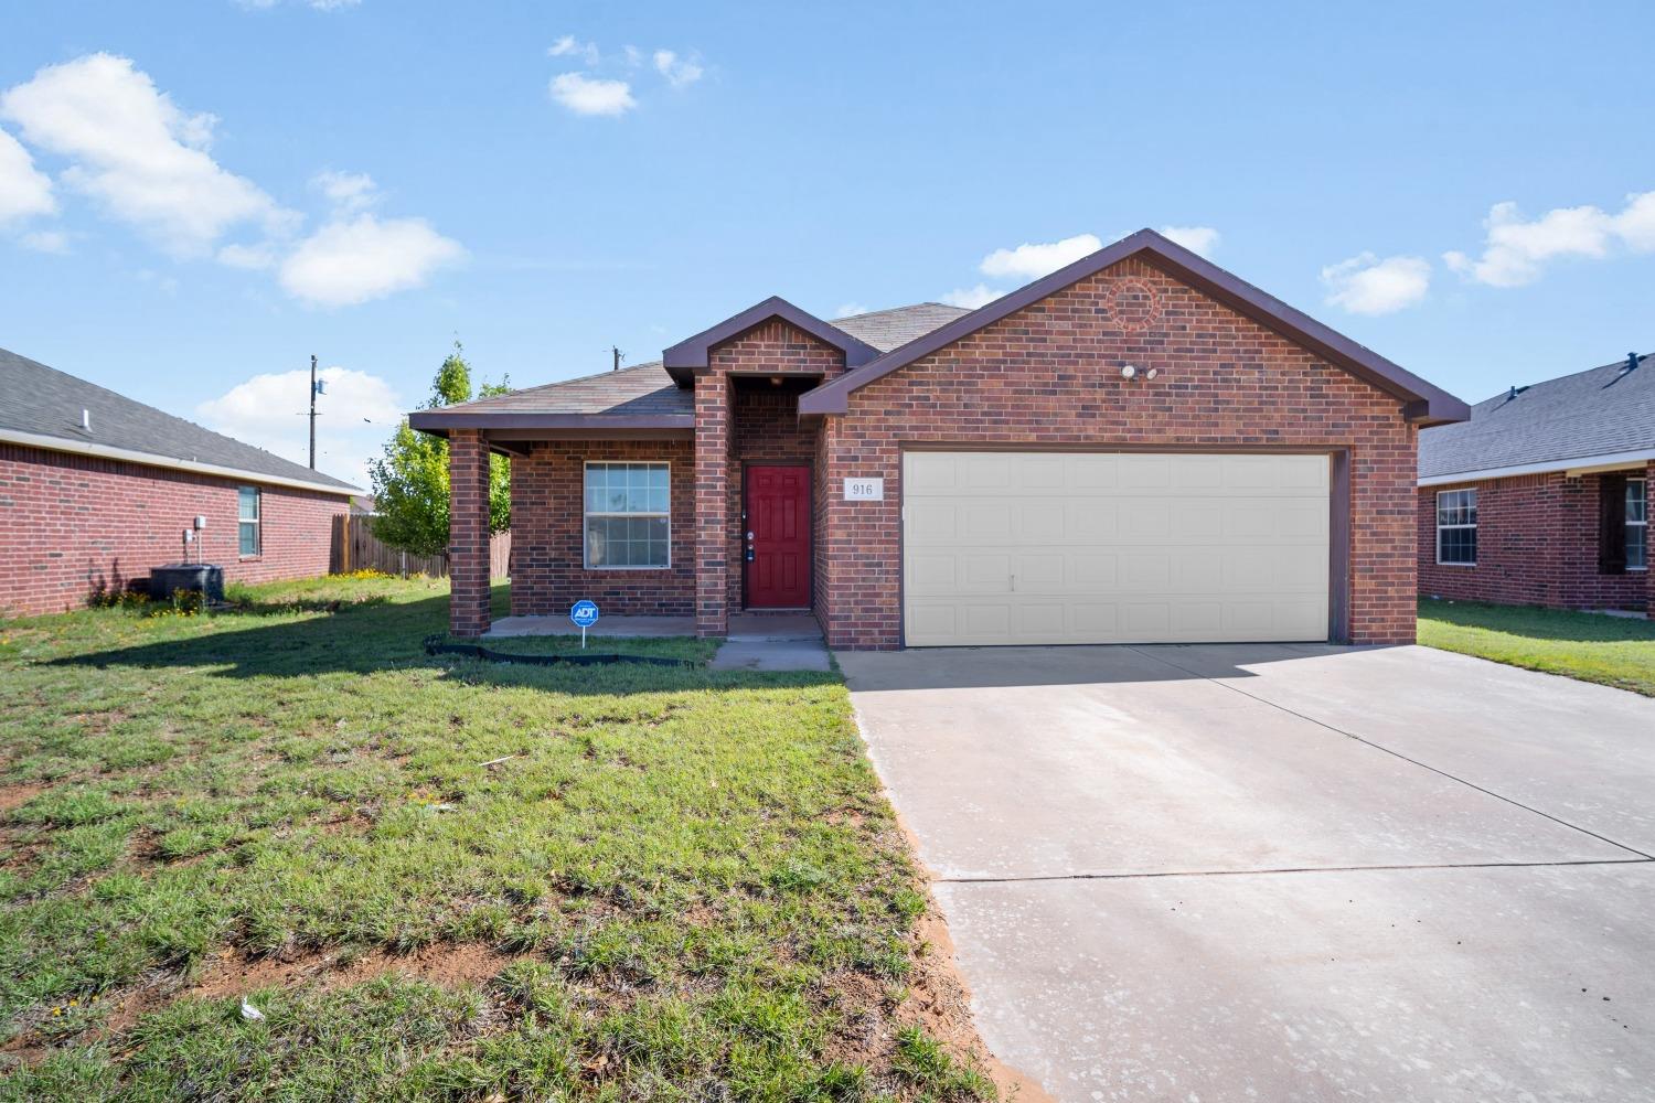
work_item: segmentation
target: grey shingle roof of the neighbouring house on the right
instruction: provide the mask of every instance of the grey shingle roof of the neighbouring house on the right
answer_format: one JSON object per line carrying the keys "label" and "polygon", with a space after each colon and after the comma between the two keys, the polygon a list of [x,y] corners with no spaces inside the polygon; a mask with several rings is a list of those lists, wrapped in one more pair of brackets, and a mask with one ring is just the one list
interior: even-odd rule
{"label": "grey shingle roof of the neighbouring house on the right", "polygon": [[1637,364],[1629,370],[1617,361],[1478,402],[1471,420],[1420,433],[1420,480],[1655,458],[1655,356]]}

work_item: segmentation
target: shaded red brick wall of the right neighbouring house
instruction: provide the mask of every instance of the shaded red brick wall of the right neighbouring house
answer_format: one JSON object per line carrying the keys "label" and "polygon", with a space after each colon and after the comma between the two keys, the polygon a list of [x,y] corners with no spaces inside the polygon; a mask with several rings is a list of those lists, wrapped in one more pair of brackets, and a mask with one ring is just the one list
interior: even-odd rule
{"label": "shaded red brick wall of the right neighbouring house", "polygon": [[[1655,486],[1655,463],[1648,468]],[[1476,566],[1437,562],[1437,493],[1476,488]],[[1556,609],[1647,609],[1647,571],[1599,574],[1602,476],[1562,471],[1418,488],[1420,594]]]}

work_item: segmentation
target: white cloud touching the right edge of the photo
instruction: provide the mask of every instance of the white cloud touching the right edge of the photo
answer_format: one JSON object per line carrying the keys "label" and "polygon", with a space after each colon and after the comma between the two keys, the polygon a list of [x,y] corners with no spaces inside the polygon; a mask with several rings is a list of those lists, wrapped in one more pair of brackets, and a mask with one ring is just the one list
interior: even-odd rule
{"label": "white cloud touching the right edge of the photo", "polygon": [[1655,192],[1627,195],[1612,215],[1599,207],[1557,207],[1524,218],[1516,203],[1494,203],[1483,220],[1483,255],[1443,253],[1453,271],[1494,288],[1519,288],[1541,278],[1561,258],[1602,260],[1615,245],[1655,250]]}

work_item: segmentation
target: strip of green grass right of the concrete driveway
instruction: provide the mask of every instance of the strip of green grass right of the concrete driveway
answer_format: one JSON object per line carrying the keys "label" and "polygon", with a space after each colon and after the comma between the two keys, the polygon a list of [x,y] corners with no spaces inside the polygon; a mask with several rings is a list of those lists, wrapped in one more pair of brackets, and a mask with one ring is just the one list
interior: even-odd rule
{"label": "strip of green grass right of the concrete driveway", "polygon": [[1422,600],[1420,643],[1655,696],[1655,623],[1648,620]]}

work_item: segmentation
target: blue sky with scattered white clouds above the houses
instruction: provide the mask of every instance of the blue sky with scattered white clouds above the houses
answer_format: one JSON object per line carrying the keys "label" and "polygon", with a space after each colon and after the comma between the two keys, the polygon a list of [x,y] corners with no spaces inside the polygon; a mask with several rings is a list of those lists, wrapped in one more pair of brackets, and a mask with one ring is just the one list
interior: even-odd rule
{"label": "blue sky with scattered white clouds above the houses", "polygon": [[1142,227],[1480,400],[1655,352],[1643,3],[18,0],[0,347],[366,486],[455,341],[976,306]]}

